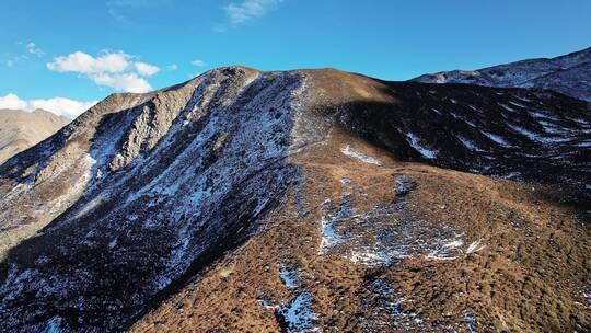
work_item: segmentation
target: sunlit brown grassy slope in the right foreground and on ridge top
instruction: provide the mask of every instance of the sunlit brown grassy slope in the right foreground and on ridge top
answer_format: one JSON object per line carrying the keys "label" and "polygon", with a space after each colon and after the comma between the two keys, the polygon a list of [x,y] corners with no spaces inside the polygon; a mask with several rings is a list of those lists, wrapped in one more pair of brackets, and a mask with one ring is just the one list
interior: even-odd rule
{"label": "sunlit brown grassy slope in the right foreground and on ridge top", "polygon": [[[369,78],[332,70],[309,74],[318,112],[354,101],[402,103]],[[383,165],[343,154],[347,145]],[[291,158],[303,170],[302,184],[259,221],[259,233],[130,330],[279,332],[285,322],[273,307],[304,292],[312,298],[314,325],[324,332],[591,330],[582,295],[590,287],[591,236],[580,208],[561,203],[568,191],[404,163],[394,154],[334,127],[325,142]],[[397,194],[397,179],[416,187]],[[320,253],[326,200],[339,204],[347,194],[357,215],[397,208],[367,225],[344,221],[358,239]],[[375,244],[380,231],[414,223],[427,226],[417,240],[437,241],[433,230],[452,228],[464,243],[447,260],[419,251],[386,265],[352,261],[359,239]],[[479,244],[478,251],[468,253],[470,244]],[[285,266],[299,272],[296,288],[281,280]]]}

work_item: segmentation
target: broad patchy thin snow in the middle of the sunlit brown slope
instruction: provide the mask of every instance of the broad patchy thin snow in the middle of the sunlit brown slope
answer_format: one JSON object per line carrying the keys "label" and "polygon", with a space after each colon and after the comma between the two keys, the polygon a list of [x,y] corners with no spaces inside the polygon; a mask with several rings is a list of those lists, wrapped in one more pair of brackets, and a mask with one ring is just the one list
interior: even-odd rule
{"label": "broad patchy thin snow in the middle of the sunlit brown slope", "polygon": [[[404,185],[406,187],[406,185]],[[407,216],[405,202],[376,205],[363,215],[349,208],[350,196],[340,206],[323,205],[318,254],[335,254],[354,264],[390,265],[412,256],[452,260],[464,243],[461,234],[443,223],[430,223]]]}

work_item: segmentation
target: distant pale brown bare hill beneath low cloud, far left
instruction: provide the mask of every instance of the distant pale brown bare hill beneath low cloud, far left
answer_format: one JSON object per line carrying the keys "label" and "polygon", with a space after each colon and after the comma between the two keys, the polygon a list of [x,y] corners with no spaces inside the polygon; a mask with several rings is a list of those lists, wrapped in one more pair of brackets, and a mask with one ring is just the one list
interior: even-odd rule
{"label": "distant pale brown bare hill beneath low cloud, far left", "polygon": [[44,110],[0,110],[0,164],[70,123]]}

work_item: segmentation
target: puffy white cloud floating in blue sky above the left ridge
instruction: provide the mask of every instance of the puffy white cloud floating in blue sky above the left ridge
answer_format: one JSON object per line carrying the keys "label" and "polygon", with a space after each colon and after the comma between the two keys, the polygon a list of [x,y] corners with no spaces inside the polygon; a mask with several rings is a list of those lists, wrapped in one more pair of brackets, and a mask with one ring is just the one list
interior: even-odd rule
{"label": "puffy white cloud floating in blue sky above the left ridge", "polygon": [[157,66],[132,61],[135,56],[118,53],[103,53],[93,57],[83,51],[54,58],[47,68],[57,72],[76,72],[91,79],[99,85],[117,91],[143,93],[152,87],[142,77],[151,77],[160,71]]}

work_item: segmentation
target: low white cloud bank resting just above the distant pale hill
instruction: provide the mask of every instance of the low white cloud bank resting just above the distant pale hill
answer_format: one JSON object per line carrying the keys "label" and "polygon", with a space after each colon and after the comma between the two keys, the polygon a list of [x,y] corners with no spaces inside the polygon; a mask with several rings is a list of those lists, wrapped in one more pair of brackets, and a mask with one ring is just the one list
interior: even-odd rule
{"label": "low white cloud bank resting just above the distant pale hill", "polygon": [[74,118],[84,111],[96,104],[97,101],[79,102],[65,97],[53,97],[48,100],[21,100],[18,95],[9,93],[0,96],[0,108],[34,111],[43,108],[57,115]]}

